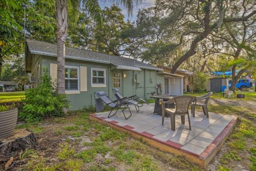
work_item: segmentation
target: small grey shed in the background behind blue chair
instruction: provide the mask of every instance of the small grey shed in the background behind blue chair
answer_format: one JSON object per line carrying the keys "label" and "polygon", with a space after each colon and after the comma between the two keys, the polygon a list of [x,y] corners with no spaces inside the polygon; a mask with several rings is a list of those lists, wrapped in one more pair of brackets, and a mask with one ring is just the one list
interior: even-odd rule
{"label": "small grey shed in the background behind blue chair", "polygon": [[221,92],[222,86],[228,87],[228,79],[221,77],[209,78],[207,91],[211,92]]}

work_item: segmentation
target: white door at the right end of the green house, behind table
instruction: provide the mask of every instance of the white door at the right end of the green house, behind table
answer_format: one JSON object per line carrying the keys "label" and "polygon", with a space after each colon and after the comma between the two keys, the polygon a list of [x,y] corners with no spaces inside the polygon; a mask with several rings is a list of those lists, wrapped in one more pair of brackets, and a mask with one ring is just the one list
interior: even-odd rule
{"label": "white door at the right end of the green house, behind table", "polygon": [[181,77],[173,77],[169,78],[169,95],[180,96],[183,94],[183,86],[182,86],[182,78]]}

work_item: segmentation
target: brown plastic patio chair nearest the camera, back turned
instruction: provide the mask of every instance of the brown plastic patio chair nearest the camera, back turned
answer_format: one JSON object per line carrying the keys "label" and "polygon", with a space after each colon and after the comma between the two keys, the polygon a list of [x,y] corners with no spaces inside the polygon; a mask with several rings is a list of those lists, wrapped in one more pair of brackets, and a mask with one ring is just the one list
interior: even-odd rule
{"label": "brown plastic patio chair nearest the camera, back turned", "polygon": [[[181,123],[185,124],[185,115],[188,117],[189,130],[191,130],[190,118],[188,107],[192,101],[195,100],[195,96],[176,96],[168,101],[162,101],[162,125],[164,122],[165,113],[170,115],[170,124],[172,126],[172,131],[175,131],[175,116],[181,116]],[[165,108],[164,104],[175,103],[175,109]]]}

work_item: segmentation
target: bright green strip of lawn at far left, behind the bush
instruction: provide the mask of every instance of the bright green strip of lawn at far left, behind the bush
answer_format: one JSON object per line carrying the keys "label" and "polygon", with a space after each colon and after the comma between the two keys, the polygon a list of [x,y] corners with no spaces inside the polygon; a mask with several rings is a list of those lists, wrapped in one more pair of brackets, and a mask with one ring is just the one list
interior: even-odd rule
{"label": "bright green strip of lawn at far left, behind the bush", "polygon": [[22,92],[1,92],[0,102],[15,102],[25,98],[25,91]]}

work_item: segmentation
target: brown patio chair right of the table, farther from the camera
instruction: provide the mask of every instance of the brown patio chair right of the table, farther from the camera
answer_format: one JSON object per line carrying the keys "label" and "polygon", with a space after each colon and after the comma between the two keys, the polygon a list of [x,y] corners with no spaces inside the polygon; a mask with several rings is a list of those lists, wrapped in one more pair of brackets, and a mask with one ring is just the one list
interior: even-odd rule
{"label": "brown patio chair right of the table, farther from the camera", "polygon": [[203,109],[204,115],[206,115],[207,118],[209,117],[207,104],[208,104],[211,94],[212,94],[212,92],[209,92],[206,95],[196,97],[195,101],[193,101],[193,103],[191,103],[191,113],[192,113],[193,117],[195,117],[196,106],[201,106]]}

